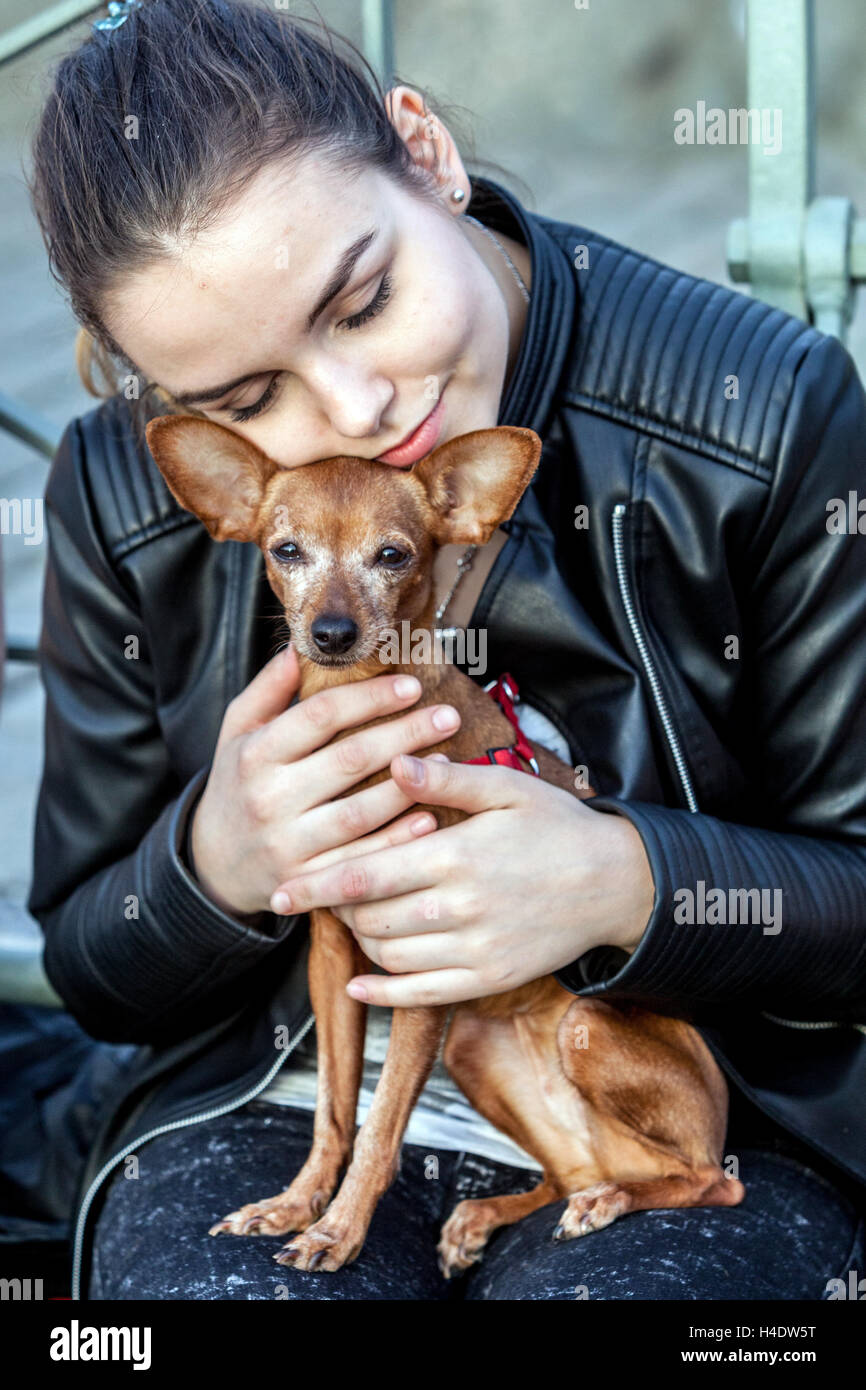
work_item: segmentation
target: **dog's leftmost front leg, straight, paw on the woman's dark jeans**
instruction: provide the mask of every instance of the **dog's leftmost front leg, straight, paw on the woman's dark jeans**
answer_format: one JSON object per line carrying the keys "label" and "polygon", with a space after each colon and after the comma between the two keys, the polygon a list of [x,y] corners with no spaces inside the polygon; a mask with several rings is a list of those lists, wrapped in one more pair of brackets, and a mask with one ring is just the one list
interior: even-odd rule
{"label": "dog's leftmost front leg, straight, paw on the woman's dark jeans", "polygon": [[346,986],[366,967],[349,929],[332,912],[314,908],[307,966],[317,1047],[313,1148],[284,1193],[232,1212],[211,1226],[211,1236],[285,1236],[306,1230],[325,1209],[352,1152],[367,1005],[346,994]]}

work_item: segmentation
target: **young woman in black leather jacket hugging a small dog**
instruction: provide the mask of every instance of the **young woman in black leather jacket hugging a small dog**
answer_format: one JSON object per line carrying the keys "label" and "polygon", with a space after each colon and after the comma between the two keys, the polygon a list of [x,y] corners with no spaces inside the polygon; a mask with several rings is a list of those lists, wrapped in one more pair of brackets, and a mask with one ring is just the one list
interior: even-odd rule
{"label": "young woman in black leather jacket hugging a small dog", "polygon": [[[256,6],[160,0],[95,32],[33,157],[82,342],[128,374],[70,425],[46,498],[31,910],[74,1016],[142,1045],[82,1183],[81,1294],[827,1297],[865,1258],[866,550],[828,525],[866,464],[848,353],[528,213],[470,178],[417,90],[382,93],[327,29]],[[142,421],[167,410],[285,468],[535,430],[512,521],[468,570],[442,552],[441,613],[487,631],[530,738],[602,795],[425,760],[442,726],[391,677],[311,720],[259,550],[213,542],[149,456]],[[392,780],[349,799],[349,835],[334,798],[361,774],[324,745],[400,710],[353,735]],[[474,816],[438,840],[418,801]],[[542,1208],[446,1282],[455,1202],[535,1186],[537,1165],[438,1068],[354,1264],[304,1275],[261,1237],[210,1240],[310,1144],[307,919],[281,892],[392,963],[352,986],[363,1104],[392,1008],[555,973],[701,1026],[745,1202],[566,1243]]]}

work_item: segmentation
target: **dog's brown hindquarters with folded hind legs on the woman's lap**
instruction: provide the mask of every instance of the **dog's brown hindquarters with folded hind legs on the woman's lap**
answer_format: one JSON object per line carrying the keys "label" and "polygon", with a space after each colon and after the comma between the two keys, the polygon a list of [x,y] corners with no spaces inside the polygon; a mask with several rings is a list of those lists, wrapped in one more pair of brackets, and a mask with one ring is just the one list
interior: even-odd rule
{"label": "dog's brown hindquarters with folded hind legs on the woman's lap", "polygon": [[546,999],[525,999],[521,1006],[516,991],[507,1008],[474,1001],[457,1009],[445,1063],[544,1177],[520,1197],[460,1202],[442,1227],[443,1273],[480,1259],[498,1227],[563,1197],[560,1240],[630,1211],[742,1201],[742,1184],[720,1166],[727,1087],[695,1029],[574,998],[556,981]]}

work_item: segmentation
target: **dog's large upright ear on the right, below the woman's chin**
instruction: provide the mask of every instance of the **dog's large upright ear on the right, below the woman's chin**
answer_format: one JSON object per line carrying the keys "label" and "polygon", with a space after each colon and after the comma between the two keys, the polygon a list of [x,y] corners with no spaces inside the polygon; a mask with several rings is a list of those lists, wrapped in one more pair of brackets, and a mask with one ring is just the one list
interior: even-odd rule
{"label": "dog's large upright ear on the right, below the woman's chin", "polygon": [[485,545],[520,502],[541,459],[534,430],[471,430],[411,470],[424,484],[439,545]]}

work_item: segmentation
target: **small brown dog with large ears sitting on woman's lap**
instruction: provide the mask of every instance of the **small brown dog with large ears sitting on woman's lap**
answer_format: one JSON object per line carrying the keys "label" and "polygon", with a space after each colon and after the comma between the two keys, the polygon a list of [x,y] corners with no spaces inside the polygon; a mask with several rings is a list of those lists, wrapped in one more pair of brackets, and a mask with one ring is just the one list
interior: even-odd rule
{"label": "small brown dog with large ears sitting on woman's lap", "polygon": [[[502,710],[456,666],[384,666],[379,646],[382,631],[400,631],[403,620],[413,634],[434,627],[436,549],[484,545],[512,516],[538,466],[538,435],[477,430],[443,443],[411,471],[367,459],[281,468],[240,435],[193,416],[152,420],[147,443],[177,500],[217,541],[260,546],[297,651],[300,699],[385,670],[407,670],[423,685],[414,708],[448,702],[461,714],[457,733],[425,756],[441,751],[468,760],[514,742]],[[381,720],[367,727],[373,723]],[[548,749],[538,748],[537,758],[545,781],[594,795],[575,791],[573,769]],[[386,777],[389,769],[350,791]],[[428,809],[439,827],[466,819],[460,810]],[[274,1257],[296,1269],[339,1269],[354,1259],[398,1172],[409,1116],[446,1027],[443,1062],[456,1084],[544,1169],[531,1193],[455,1208],[439,1243],[446,1276],[480,1259],[499,1226],[557,1200],[567,1198],[567,1207],[556,1238],[598,1230],[626,1212],[742,1201],[742,1184],[720,1168],[727,1084],[701,1034],[681,1019],[575,997],[553,976],[459,1004],[453,1012],[395,1009],[388,1056],[356,1136],[366,1005],[345,987],[370,969],[348,927],[314,909],[313,1148],[286,1191],[232,1212],[211,1234],[300,1232]]]}

